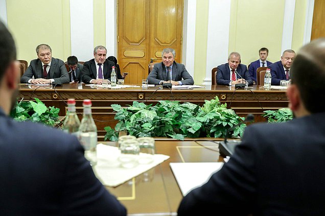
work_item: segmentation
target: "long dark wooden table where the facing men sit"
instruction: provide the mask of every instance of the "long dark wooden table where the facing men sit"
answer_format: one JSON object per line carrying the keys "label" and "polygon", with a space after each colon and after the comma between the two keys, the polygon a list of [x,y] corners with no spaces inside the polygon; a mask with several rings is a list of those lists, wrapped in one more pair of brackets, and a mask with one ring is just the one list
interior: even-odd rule
{"label": "long dark wooden table where the facing men sit", "polygon": [[211,100],[218,96],[221,103],[227,103],[227,107],[233,109],[239,116],[254,114],[256,122],[265,121],[261,116],[265,110],[288,107],[288,98],[284,90],[266,90],[261,86],[253,86],[235,91],[235,87],[202,86],[204,88],[170,90],[161,87],[142,89],[136,85],[129,88],[108,89],[85,84],[63,84],[60,87],[21,84],[18,99],[38,98],[47,106],[58,107],[59,116],[65,116],[67,99],[75,98],[80,119],[82,118],[82,101],[91,99],[92,116],[98,128],[99,141],[102,141],[105,136],[104,127],[114,127],[118,122],[114,120],[115,113],[111,104],[126,106],[132,105],[133,101],[155,104],[159,100],[177,100],[203,105],[204,100]]}

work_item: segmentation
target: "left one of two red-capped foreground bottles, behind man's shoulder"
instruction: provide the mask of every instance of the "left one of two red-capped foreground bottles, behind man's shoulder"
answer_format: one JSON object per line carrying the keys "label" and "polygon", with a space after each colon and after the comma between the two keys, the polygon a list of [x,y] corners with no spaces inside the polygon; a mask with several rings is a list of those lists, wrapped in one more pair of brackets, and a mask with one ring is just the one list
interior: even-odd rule
{"label": "left one of two red-capped foreground bottles, behind man's shoulder", "polygon": [[69,98],[67,100],[68,112],[65,116],[63,128],[65,132],[71,133],[79,138],[80,120],[76,114],[76,100]]}

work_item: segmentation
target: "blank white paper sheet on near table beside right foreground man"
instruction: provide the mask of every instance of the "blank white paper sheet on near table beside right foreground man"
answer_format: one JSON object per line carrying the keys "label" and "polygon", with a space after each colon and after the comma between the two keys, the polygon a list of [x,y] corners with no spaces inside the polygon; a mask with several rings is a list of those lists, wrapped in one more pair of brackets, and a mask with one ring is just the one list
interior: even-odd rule
{"label": "blank white paper sheet on near table beside right foreground man", "polygon": [[183,196],[201,186],[221,169],[222,162],[214,163],[170,163],[169,164]]}

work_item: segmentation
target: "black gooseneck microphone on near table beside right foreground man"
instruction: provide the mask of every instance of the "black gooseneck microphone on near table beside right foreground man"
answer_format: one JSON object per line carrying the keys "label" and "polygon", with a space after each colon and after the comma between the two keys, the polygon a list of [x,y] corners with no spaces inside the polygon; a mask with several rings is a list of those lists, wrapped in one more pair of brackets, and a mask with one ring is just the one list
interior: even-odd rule
{"label": "black gooseneck microphone on near table beside right foreground man", "polygon": [[222,156],[232,155],[235,151],[235,147],[240,144],[240,141],[237,141],[237,140],[234,140],[231,142],[227,141],[229,132],[244,123],[252,122],[252,121],[254,121],[254,115],[248,114],[244,121],[241,121],[238,124],[234,125],[233,127],[230,127],[229,129],[227,129],[225,137],[224,137],[224,141],[219,143],[219,152]]}

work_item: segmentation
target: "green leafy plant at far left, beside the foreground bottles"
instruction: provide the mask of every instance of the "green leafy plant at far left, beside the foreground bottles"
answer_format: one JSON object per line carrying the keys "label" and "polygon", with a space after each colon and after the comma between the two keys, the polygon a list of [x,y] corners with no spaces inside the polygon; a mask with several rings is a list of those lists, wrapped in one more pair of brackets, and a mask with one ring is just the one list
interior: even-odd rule
{"label": "green leafy plant at far left, beside the foreground bottles", "polygon": [[10,116],[16,121],[41,122],[45,125],[55,126],[59,121],[60,109],[50,106],[47,107],[38,98],[34,101],[16,102],[15,108],[11,111]]}

